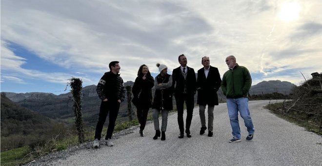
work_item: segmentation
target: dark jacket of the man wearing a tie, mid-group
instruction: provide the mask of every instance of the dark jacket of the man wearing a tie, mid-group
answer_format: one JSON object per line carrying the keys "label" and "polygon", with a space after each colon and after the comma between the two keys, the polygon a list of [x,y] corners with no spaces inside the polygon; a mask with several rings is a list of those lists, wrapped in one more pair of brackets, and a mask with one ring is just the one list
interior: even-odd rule
{"label": "dark jacket of the man wearing a tie, mid-group", "polygon": [[173,69],[172,72],[172,78],[173,78],[173,86],[175,90],[174,93],[176,94],[182,94],[184,92],[184,87],[187,89],[188,94],[194,95],[196,93],[196,73],[195,70],[191,67],[187,66],[187,76],[184,80],[184,77],[181,72],[180,66]]}

